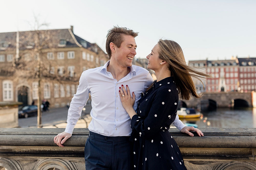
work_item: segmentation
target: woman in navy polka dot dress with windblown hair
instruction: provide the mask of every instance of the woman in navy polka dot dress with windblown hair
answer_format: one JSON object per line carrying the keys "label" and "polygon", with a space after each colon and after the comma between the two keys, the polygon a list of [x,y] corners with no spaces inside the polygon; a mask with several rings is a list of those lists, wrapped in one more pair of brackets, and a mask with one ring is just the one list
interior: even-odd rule
{"label": "woman in navy polka dot dress with windblown hair", "polygon": [[[134,169],[187,169],[168,129],[177,114],[179,95],[185,100],[191,95],[201,97],[191,76],[209,75],[187,66],[181,47],[171,40],[160,39],[147,58],[147,68],[155,71],[157,80],[138,101],[137,113],[133,109],[135,94],[131,96],[127,85],[127,91],[123,85],[119,91],[123,107],[132,119]],[[199,131],[198,135],[203,133]]]}

